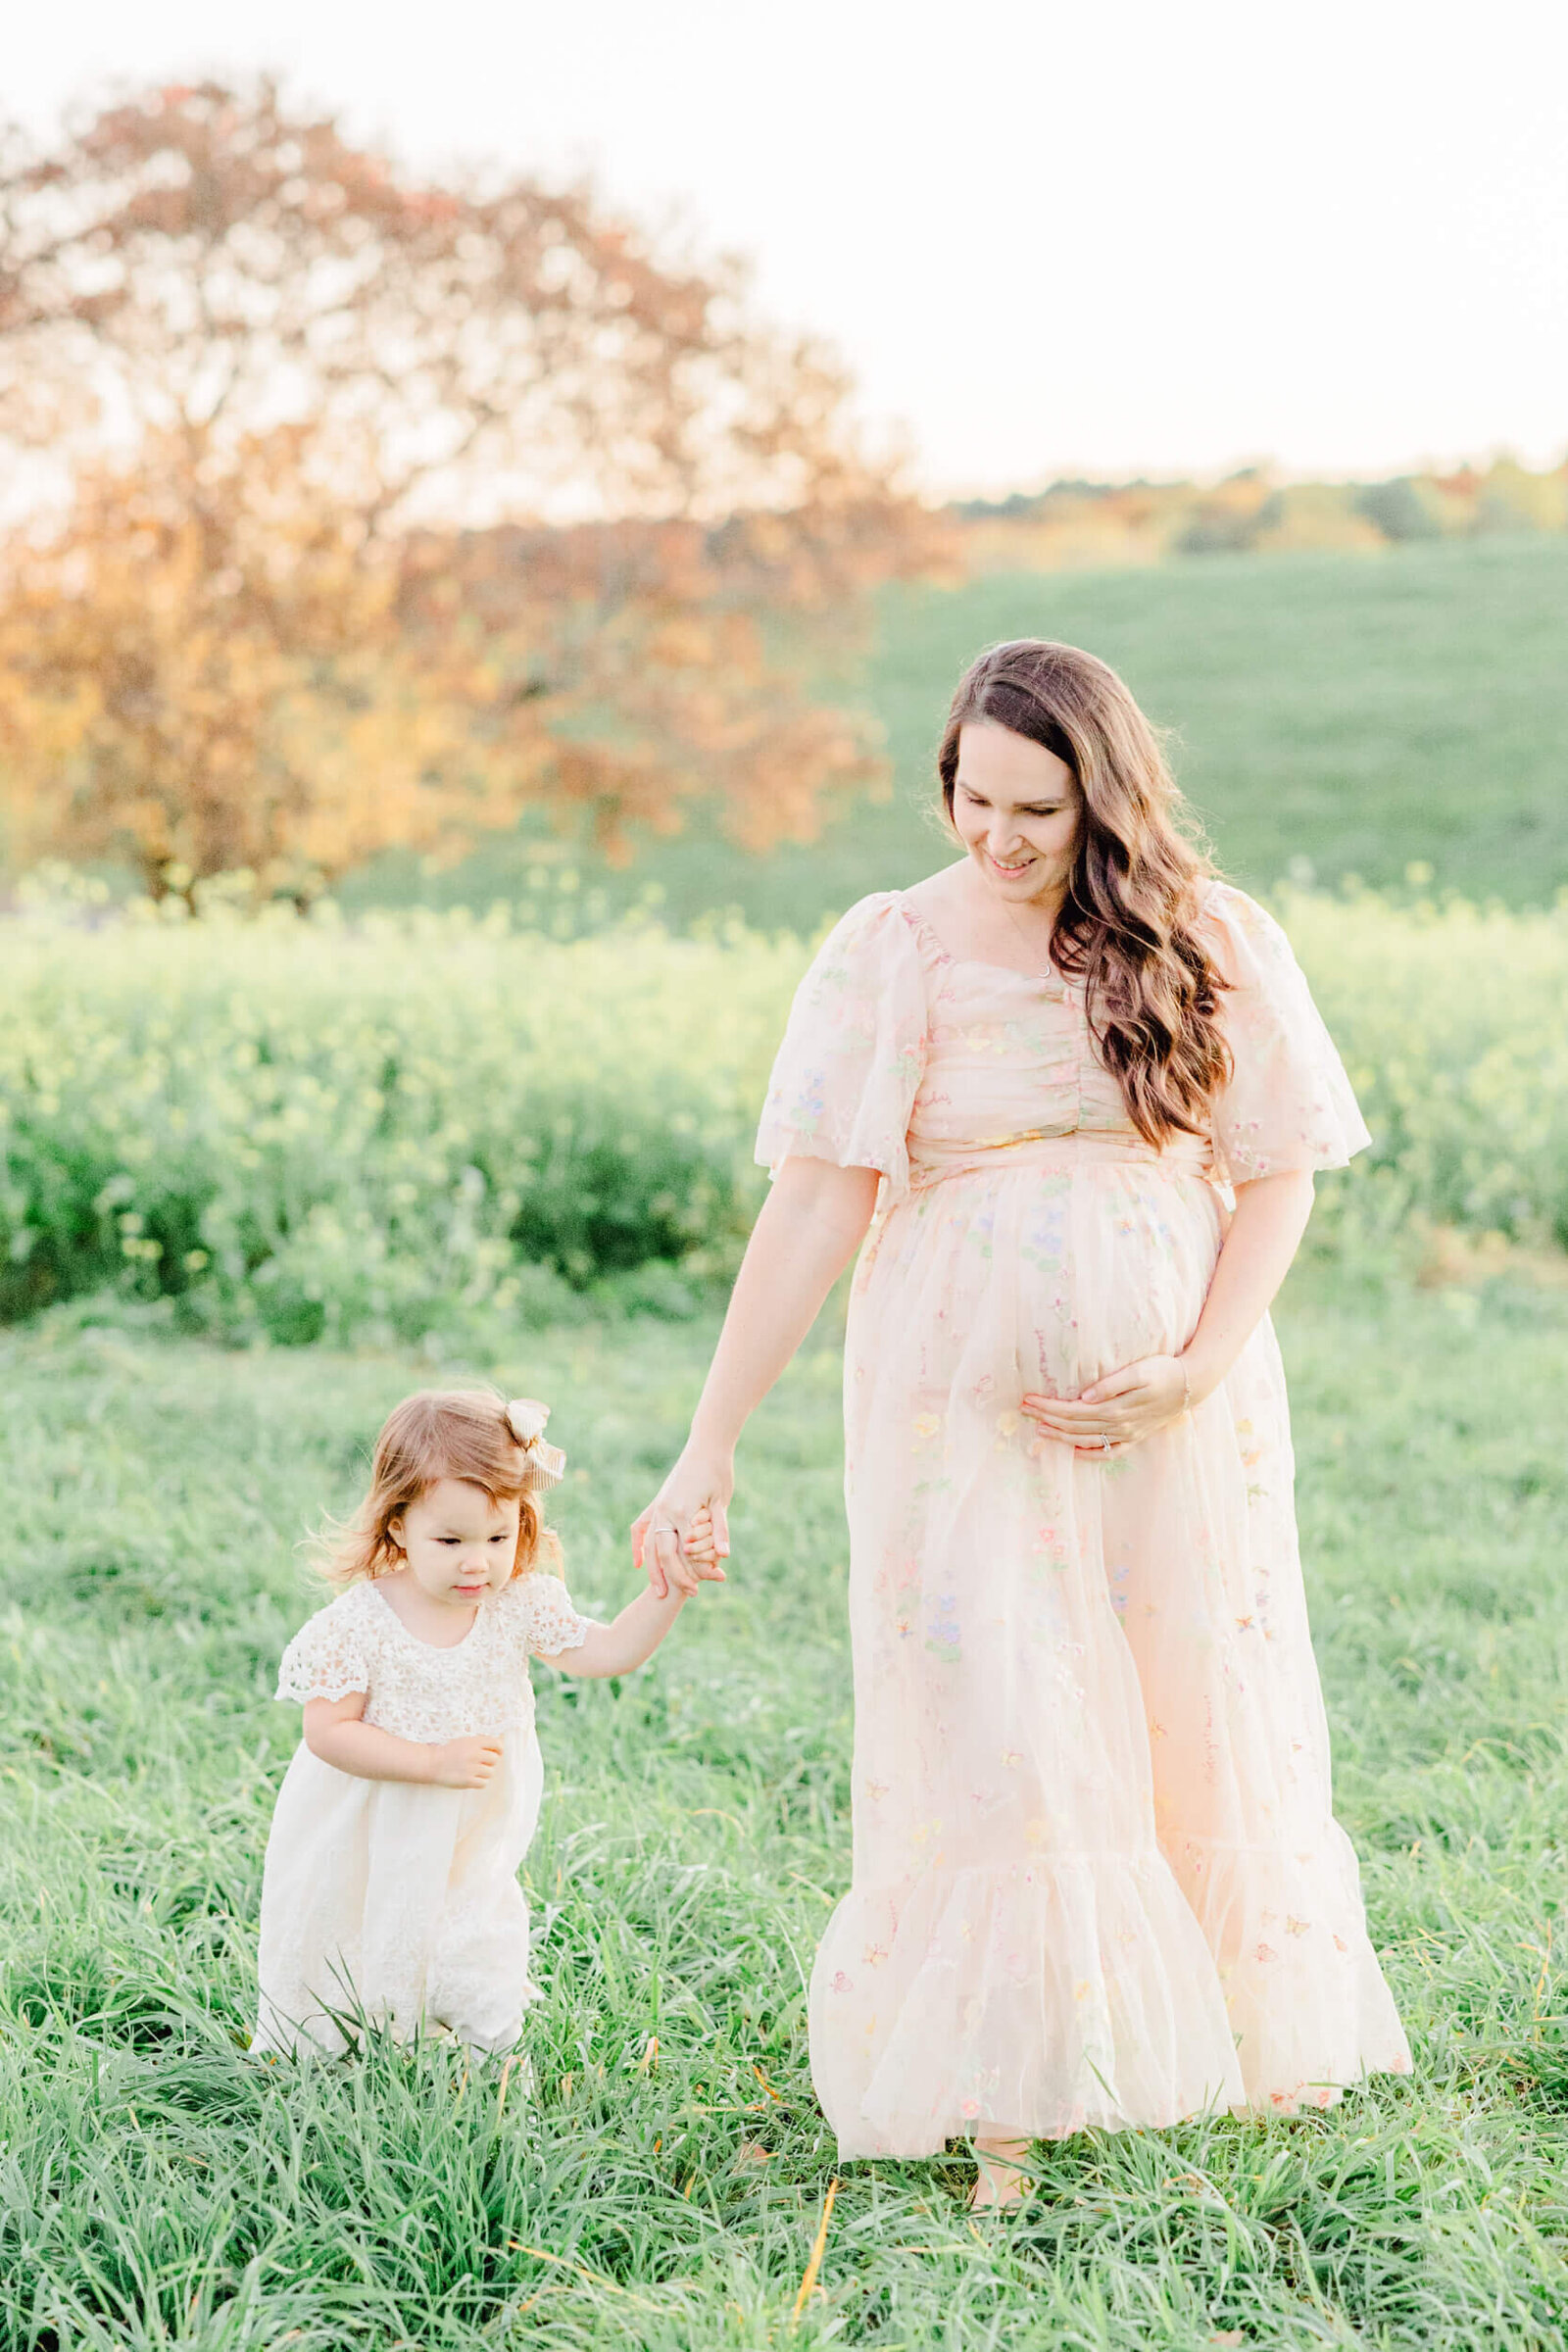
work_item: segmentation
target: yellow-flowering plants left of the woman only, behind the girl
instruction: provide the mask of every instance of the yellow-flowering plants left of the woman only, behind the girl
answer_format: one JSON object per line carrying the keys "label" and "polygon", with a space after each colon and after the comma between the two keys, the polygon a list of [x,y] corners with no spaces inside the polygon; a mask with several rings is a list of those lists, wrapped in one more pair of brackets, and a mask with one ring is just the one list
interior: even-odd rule
{"label": "yellow-flowering plants left of the woman only, behind the girl", "polygon": [[733,1251],[790,964],[463,915],[12,924],[0,1315],[115,1282],[409,1338]]}

